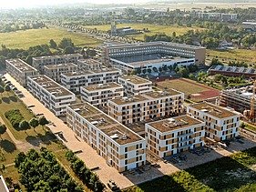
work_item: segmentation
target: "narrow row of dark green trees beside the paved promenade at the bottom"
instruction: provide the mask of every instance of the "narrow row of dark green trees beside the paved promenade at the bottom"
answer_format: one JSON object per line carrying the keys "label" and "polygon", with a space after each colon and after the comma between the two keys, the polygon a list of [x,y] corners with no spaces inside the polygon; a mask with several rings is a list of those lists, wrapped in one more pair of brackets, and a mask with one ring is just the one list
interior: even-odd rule
{"label": "narrow row of dark green trees beside the paved promenade at the bottom", "polygon": [[87,187],[92,191],[103,191],[105,185],[100,182],[97,175],[93,173],[82,160],[77,158],[72,151],[67,151],[66,157],[71,164],[71,168],[77,174],[77,177],[79,177]]}

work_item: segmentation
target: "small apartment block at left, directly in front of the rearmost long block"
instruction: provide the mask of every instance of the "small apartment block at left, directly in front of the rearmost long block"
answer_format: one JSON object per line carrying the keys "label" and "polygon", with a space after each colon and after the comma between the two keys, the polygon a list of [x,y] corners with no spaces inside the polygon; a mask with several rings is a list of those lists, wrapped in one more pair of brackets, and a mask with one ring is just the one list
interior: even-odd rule
{"label": "small apartment block at left, directly in front of the rearmost long block", "polygon": [[61,74],[71,73],[75,71],[78,71],[78,66],[73,63],[44,66],[44,74],[58,83],[60,83]]}

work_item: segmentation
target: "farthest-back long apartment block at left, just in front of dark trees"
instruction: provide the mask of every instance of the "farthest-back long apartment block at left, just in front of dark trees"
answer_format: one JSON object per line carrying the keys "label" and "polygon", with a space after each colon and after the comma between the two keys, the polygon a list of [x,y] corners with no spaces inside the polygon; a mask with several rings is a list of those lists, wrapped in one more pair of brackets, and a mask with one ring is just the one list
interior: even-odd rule
{"label": "farthest-back long apartment block at left, just in front of dark trees", "polygon": [[77,64],[77,60],[82,59],[83,56],[80,54],[68,54],[58,56],[39,56],[32,58],[32,66],[43,73],[44,66],[56,65],[56,64]]}

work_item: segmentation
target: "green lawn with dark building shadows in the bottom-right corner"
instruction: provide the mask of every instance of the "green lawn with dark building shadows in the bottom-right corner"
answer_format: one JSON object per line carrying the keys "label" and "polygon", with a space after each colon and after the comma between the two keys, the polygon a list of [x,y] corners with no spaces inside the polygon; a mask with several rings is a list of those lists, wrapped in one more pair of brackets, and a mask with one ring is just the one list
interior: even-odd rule
{"label": "green lawn with dark building shadows in the bottom-right corner", "polygon": [[156,178],[136,187],[132,191],[255,191],[256,147],[222,157],[215,161],[179,171],[173,175]]}

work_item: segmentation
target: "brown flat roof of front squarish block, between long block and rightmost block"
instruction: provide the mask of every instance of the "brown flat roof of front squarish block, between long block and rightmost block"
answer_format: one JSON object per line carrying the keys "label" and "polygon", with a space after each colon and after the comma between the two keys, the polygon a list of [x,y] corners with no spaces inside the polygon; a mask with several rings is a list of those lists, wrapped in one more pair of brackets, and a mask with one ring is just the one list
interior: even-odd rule
{"label": "brown flat roof of front squarish block, between long block and rightmost block", "polygon": [[163,120],[151,122],[151,123],[148,123],[148,125],[164,133],[164,132],[169,132],[169,131],[177,130],[180,128],[185,128],[185,127],[190,127],[195,125],[200,126],[201,123],[203,122],[198,119],[195,119],[188,115],[184,115],[184,116],[176,116],[176,117],[171,117],[171,118],[166,118]]}

